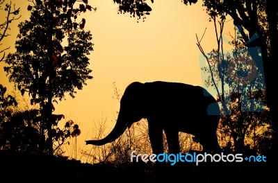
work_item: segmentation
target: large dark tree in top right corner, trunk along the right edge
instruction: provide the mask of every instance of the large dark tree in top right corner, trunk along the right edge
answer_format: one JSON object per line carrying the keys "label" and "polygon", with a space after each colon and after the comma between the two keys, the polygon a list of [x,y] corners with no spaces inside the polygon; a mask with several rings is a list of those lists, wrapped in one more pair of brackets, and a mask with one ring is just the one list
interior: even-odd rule
{"label": "large dark tree in top right corner, trunk along the right edge", "polygon": [[[206,11],[211,16],[230,15],[234,25],[240,27],[241,42],[248,48],[261,47],[261,51],[252,51],[252,58],[261,56],[266,84],[266,103],[270,107],[275,141],[278,132],[277,103],[275,82],[272,74],[278,69],[276,60],[278,49],[278,8],[272,1],[204,1]],[[256,59],[254,59],[256,60]],[[259,65],[258,63],[256,63]]]}

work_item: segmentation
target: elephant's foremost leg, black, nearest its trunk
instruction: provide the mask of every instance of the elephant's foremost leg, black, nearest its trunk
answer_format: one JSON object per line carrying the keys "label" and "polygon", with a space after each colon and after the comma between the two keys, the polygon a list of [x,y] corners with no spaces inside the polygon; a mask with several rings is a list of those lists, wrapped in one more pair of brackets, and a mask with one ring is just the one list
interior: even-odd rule
{"label": "elephant's foremost leg, black, nearest its trunk", "polygon": [[152,152],[156,155],[164,153],[163,128],[157,121],[148,119],[149,141],[151,141]]}

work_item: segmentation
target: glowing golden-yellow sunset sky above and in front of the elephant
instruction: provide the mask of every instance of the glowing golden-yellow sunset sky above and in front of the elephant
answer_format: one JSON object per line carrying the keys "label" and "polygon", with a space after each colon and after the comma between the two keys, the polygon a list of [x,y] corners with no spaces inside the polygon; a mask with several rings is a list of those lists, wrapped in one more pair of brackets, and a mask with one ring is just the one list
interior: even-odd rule
{"label": "glowing golden-yellow sunset sky above and in front of the elephant", "polygon": [[[15,2],[22,10],[19,21],[29,17],[26,2]],[[178,0],[155,0],[154,3],[148,0],[152,12],[145,22],[139,23],[128,14],[117,14],[117,4],[113,0],[90,0],[89,3],[97,11],[81,16],[86,19],[85,29],[93,36],[94,51],[90,55],[93,79],[77,91],[74,99],[67,96],[65,101],[55,104],[54,112],[65,115],[62,124],[70,119],[79,124],[80,148],[85,147],[85,140],[94,136],[92,127],[97,123],[106,121],[107,132],[113,128],[115,112],[120,109],[119,101],[113,98],[113,82],[121,94],[133,81],[164,80],[202,85],[196,34],[202,37],[207,28],[202,40],[204,50],[211,51],[216,46],[213,22],[208,21],[202,1],[185,6]],[[19,21],[13,23],[11,36],[4,40],[0,49],[11,46],[8,52],[15,51]],[[231,25],[232,21],[227,22],[229,31]],[[224,30],[224,33],[229,31]],[[229,44],[226,46],[229,48]],[[2,67],[3,64],[0,83],[9,87]]]}

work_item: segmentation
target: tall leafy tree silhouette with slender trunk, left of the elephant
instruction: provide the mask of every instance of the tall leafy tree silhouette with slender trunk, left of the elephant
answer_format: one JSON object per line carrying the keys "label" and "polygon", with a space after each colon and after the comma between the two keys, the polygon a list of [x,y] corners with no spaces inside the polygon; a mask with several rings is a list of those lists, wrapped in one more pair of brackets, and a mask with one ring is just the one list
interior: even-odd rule
{"label": "tall leafy tree silhouette with slender trunk, left of the elephant", "polygon": [[17,51],[8,54],[4,70],[22,95],[27,92],[31,104],[40,106],[40,134],[47,132],[45,145],[52,155],[52,129],[56,125],[53,103],[61,101],[65,94],[74,98],[75,89],[82,89],[92,79],[92,70],[88,68],[92,35],[83,29],[85,19],[79,19],[81,13],[92,7],[88,1],[30,2],[30,19],[19,24]]}

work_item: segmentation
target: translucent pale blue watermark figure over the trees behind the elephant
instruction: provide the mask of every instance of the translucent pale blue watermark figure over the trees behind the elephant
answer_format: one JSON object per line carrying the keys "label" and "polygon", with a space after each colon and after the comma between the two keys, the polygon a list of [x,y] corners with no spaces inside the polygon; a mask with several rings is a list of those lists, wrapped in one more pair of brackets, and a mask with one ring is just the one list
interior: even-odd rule
{"label": "translucent pale blue watermark figure over the trees behind the elephant", "polygon": [[[237,35],[240,35],[241,30],[242,26],[236,26]],[[229,105],[233,100],[233,95],[238,93],[241,94],[239,101],[241,112],[265,111],[264,101],[252,95],[266,89],[261,47],[246,46],[258,38],[259,34],[254,33],[245,46],[236,48],[224,35],[221,35],[223,42],[235,48],[199,55],[202,85],[213,96],[225,96],[224,101],[219,103],[219,105],[225,105],[222,111],[224,115],[231,115],[232,109]],[[207,92],[204,91],[205,96],[208,94]],[[208,106],[208,113],[215,113],[213,105]]]}

